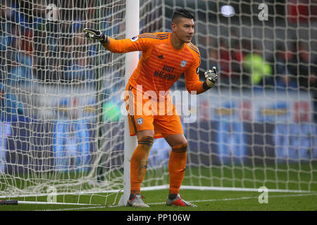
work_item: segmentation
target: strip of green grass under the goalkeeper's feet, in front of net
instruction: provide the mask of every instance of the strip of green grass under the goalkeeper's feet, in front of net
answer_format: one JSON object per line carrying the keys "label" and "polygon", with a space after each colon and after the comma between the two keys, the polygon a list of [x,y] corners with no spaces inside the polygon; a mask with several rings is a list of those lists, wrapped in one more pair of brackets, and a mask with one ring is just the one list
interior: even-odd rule
{"label": "strip of green grass under the goalkeeper's feet, in front of net", "polygon": [[[112,205],[115,196],[108,196],[107,205],[102,204],[105,200],[104,194],[94,195],[63,195],[57,196],[57,202],[67,201],[74,205],[51,205],[51,204],[18,204],[0,205],[0,211],[316,211],[317,193],[270,193],[268,192],[268,203],[259,203],[259,192],[250,191],[192,191],[182,190],[181,195],[185,200],[197,205],[197,207],[174,207],[165,205],[168,190],[143,191],[144,202],[149,208],[118,207]],[[120,195],[118,196],[120,197]],[[76,205],[92,199],[96,205]],[[42,197],[14,198],[23,201],[43,201]],[[118,200],[117,200],[118,202]]]}

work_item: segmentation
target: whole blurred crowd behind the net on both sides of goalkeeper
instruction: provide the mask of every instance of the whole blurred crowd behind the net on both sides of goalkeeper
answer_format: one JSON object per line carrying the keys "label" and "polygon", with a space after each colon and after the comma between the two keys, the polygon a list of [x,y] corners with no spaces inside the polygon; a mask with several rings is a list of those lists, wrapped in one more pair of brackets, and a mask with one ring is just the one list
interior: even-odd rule
{"label": "whole blurred crowd behind the net on both sides of goalkeeper", "polygon": [[[73,5],[76,2],[80,6]],[[89,26],[87,21],[93,21],[94,8],[87,5],[82,10],[81,1],[63,4],[56,14],[54,4],[46,6],[42,0],[1,0],[0,85],[19,86],[34,80],[87,84],[96,79],[94,65],[101,63],[94,57],[98,45],[87,42],[82,34]],[[309,43],[276,42],[267,56],[261,42],[240,38],[235,31],[228,38],[210,42],[206,58],[220,71],[219,88],[311,91],[316,105],[317,57]],[[4,85],[0,87],[1,99],[7,98]]]}

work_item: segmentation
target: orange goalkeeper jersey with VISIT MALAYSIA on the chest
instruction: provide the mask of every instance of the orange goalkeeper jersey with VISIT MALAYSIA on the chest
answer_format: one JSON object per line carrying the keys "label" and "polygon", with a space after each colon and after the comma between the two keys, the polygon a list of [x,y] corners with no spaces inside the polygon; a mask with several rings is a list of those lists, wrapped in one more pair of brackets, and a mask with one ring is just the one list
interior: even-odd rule
{"label": "orange goalkeeper jersey with VISIT MALAYSIA on the chest", "polygon": [[[174,49],[169,32],[144,33],[131,39],[112,39],[106,49],[113,53],[142,51],[137,68],[132,73],[129,84],[133,88],[142,85],[142,92],[155,91],[157,98],[167,96],[171,86],[185,74],[187,91],[204,91],[199,81],[197,69],[200,53],[192,43],[182,49]],[[164,94],[165,93],[165,94]],[[160,98],[161,99],[161,98]]]}

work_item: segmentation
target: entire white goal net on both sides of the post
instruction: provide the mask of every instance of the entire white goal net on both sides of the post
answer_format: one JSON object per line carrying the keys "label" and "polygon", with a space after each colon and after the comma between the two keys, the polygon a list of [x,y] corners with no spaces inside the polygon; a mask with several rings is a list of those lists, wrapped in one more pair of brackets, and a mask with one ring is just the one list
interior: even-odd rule
{"label": "entire white goal net on both sides of the post", "polygon": [[[199,96],[184,77],[171,90],[189,143],[182,188],[316,191],[317,5],[140,0],[139,33],[170,31],[179,7],[197,17],[201,80],[219,71]],[[127,182],[125,55],[83,28],[123,39],[125,13],[124,0],[1,1],[1,198],[116,201]],[[169,153],[154,141],[142,189],[168,188]]]}

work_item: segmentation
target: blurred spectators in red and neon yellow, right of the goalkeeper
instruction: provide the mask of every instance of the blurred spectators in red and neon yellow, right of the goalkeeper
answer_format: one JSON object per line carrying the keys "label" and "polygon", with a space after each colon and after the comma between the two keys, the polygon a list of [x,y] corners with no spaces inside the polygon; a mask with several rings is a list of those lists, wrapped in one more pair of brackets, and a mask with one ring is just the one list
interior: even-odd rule
{"label": "blurred spectators in red and neon yellow, right of the goalkeeper", "polygon": [[275,42],[273,53],[266,57],[261,43],[249,39],[219,42],[209,51],[209,63],[220,70],[220,86],[316,91],[317,55],[308,43]]}

